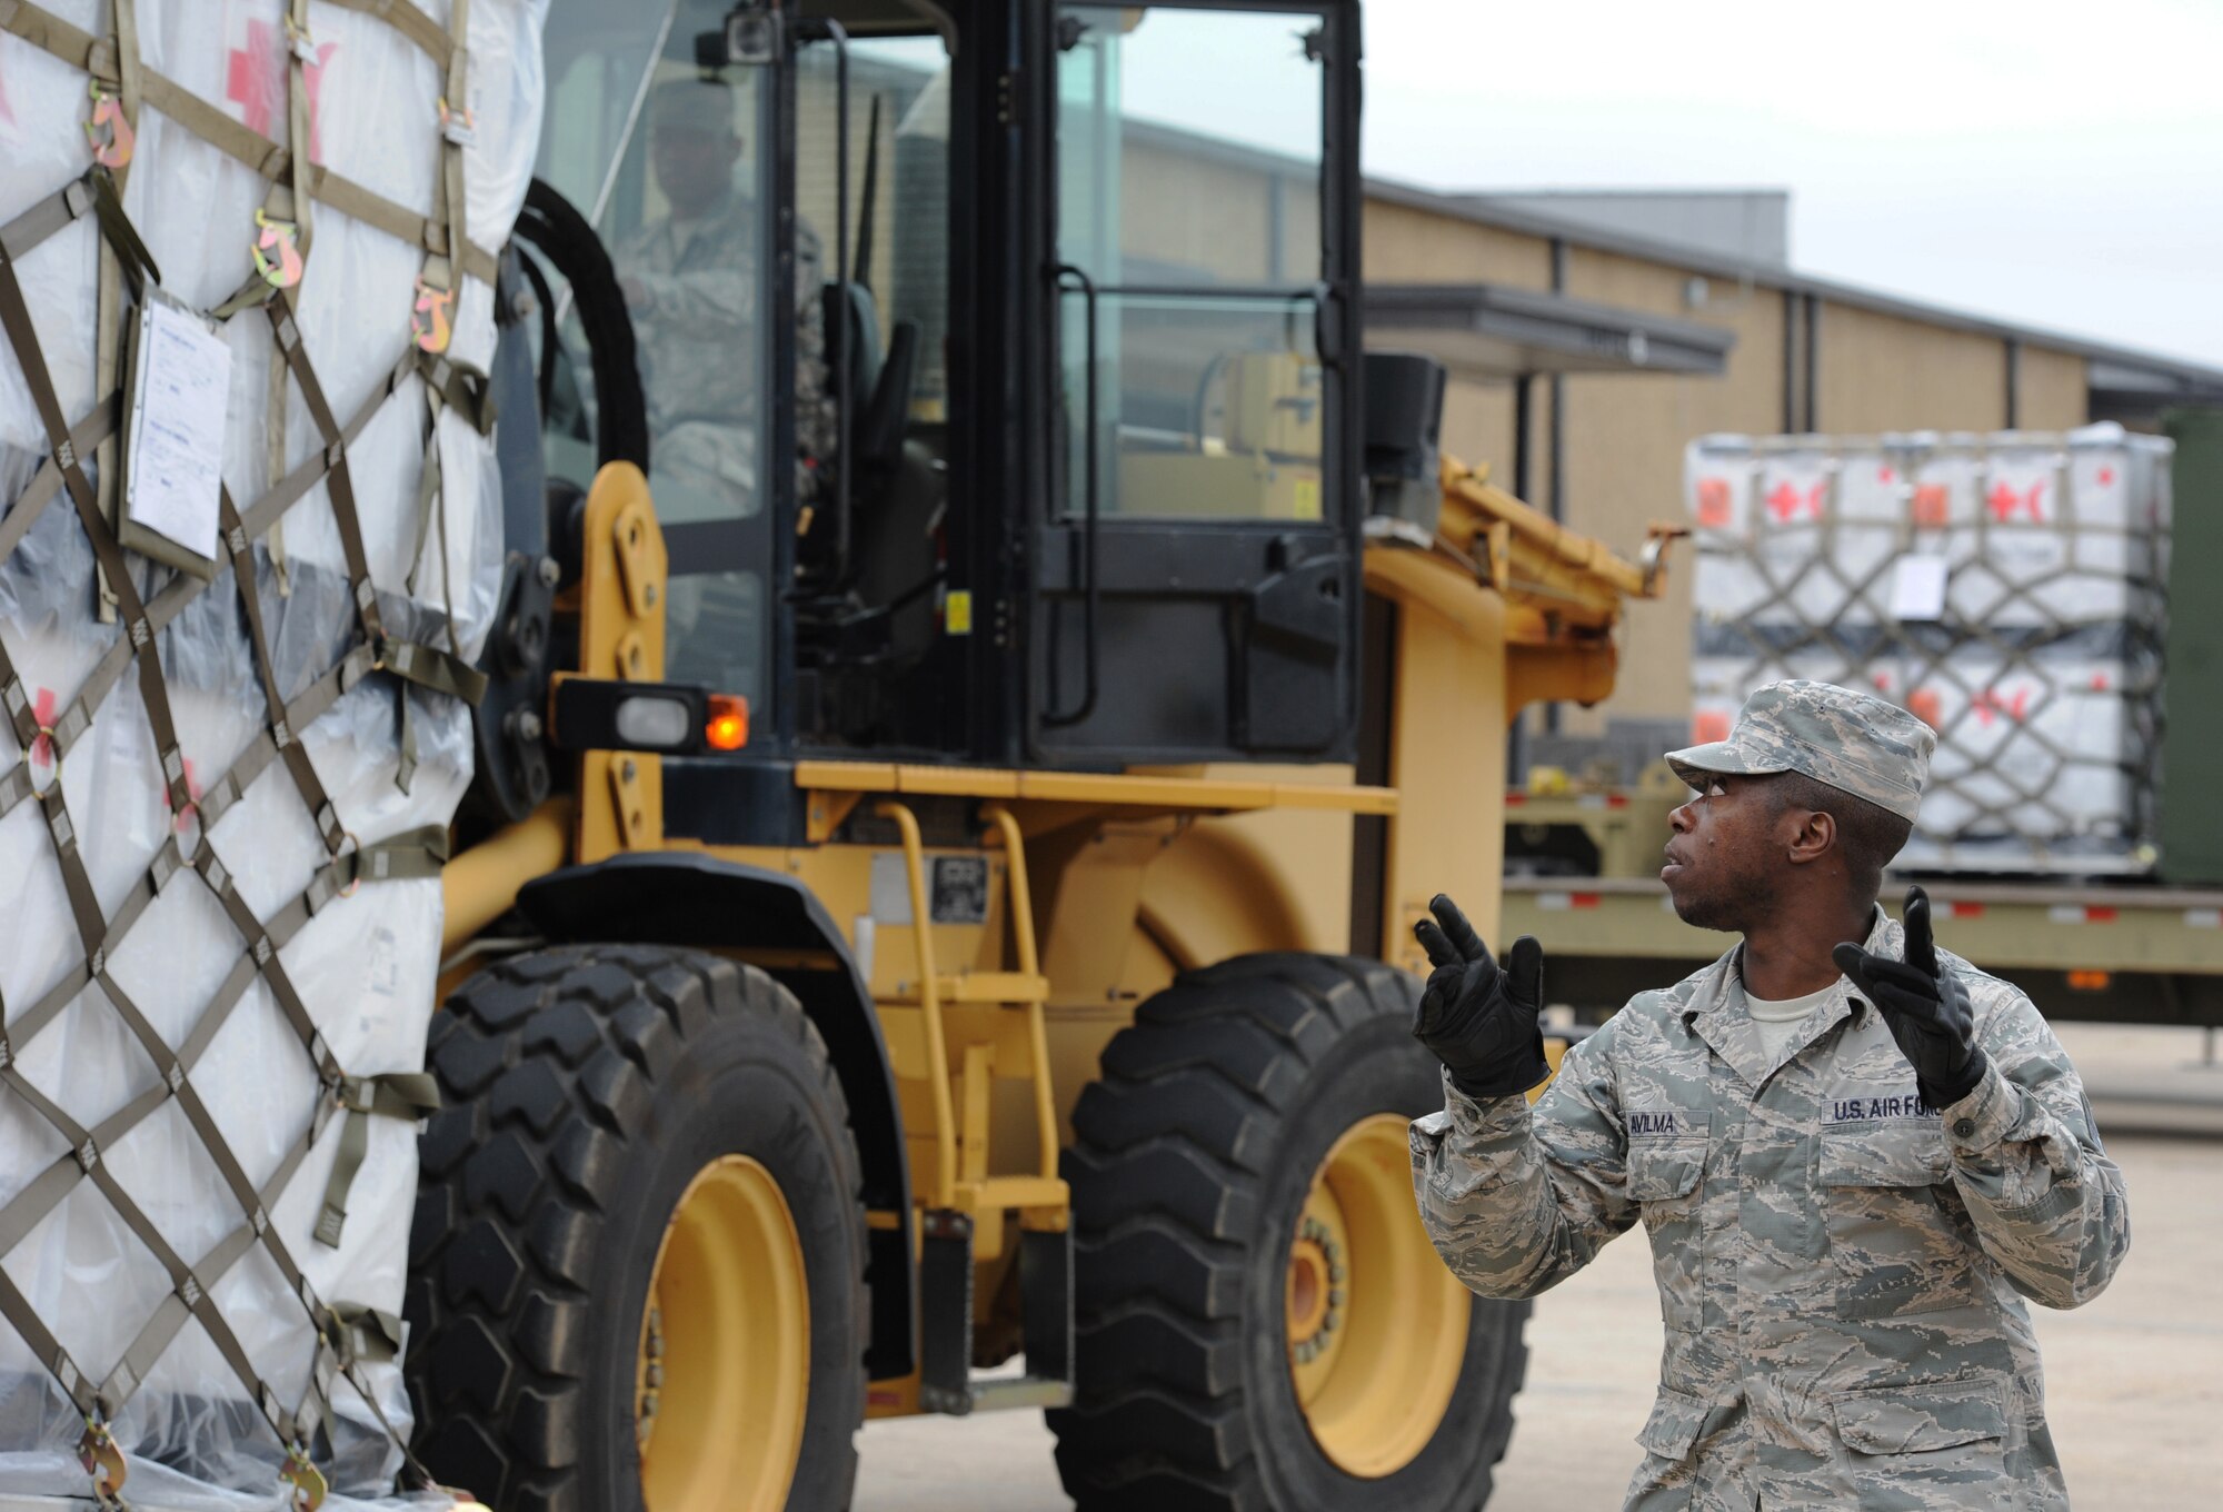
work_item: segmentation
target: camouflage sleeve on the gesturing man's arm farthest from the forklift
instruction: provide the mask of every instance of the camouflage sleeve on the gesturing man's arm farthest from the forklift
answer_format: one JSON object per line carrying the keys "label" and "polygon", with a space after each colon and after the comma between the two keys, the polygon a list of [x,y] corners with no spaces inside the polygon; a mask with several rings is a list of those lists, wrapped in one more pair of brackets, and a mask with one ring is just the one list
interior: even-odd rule
{"label": "camouflage sleeve on the gesturing man's arm farthest from the forklift", "polygon": [[2079,1307],[2130,1250],[2123,1172],[2101,1150],[2092,1103],[2061,1041],[2023,994],[1983,1016],[1990,1067],[1943,1110],[1954,1187],[2014,1290]]}

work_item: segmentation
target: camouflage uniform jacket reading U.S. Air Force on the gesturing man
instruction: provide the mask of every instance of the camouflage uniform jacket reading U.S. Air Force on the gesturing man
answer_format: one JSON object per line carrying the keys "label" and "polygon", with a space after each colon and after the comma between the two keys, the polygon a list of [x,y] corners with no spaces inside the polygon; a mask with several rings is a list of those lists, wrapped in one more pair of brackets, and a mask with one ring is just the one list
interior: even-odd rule
{"label": "camouflage uniform jacket reading U.S. Air Force on the gesturing man", "polygon": [[[1903,949],[1881,909],[1867,949]],[[1412,1130],[1436,1250],[1534,1296],[1643,1218],[1667,1352],[1629,1508],[2067,1508],[2021,1299],[2096,1296],[2130,1221],[2052,1029],[1938,952],[1992,1063],[1941,1116],[1845,978],[1767,1056],[1736,958],[1636,996],[1534,1116],[1445,1078]]]}

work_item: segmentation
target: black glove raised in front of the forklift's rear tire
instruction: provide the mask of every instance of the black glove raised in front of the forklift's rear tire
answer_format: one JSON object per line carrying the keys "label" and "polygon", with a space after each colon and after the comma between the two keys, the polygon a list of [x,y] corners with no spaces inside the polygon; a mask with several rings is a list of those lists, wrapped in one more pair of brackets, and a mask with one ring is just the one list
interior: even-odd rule
{"label": "black glove raised in front of the forklift's rear tire", "polygon": [[1543,1058],[1536,1014],[1543,1009],[1543,945],[1523,934],[1505,956],[1505,969],[1447,894],[1429,903],[1434,918],[1412,927],[1434,963],[1420,1009],[1412,1018],[1416,1041],[1436,1052],[1452,1083],[1472,1098],[1527,1092],[1552,1065]]}

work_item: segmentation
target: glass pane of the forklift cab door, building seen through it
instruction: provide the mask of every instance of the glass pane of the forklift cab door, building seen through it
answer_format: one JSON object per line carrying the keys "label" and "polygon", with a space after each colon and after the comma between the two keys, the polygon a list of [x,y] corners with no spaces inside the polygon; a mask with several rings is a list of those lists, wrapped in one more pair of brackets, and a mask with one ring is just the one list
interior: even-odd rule
{"label": "glass pane of the forklift cab door, building seen through it", "polygon": [[1094,427],[1105,516],[1323,518],[1318,36],[1307,13],[1060,9],[1067,516]]}

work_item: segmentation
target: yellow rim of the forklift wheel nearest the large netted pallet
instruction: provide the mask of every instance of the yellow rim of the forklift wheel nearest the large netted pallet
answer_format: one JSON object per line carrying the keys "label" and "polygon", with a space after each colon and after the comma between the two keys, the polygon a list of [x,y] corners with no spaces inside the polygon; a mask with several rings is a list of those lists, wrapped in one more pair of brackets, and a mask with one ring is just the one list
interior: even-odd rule
{"label": "yellow rim of the forklift wheel nearest the large netted pallet", "polygon": [[778,1512],[803,1452],[811,1305],[780,1183],[745,1154],[687,1183],[640,1319],[634,1436],[649,1512]]}

